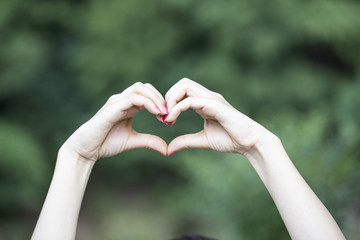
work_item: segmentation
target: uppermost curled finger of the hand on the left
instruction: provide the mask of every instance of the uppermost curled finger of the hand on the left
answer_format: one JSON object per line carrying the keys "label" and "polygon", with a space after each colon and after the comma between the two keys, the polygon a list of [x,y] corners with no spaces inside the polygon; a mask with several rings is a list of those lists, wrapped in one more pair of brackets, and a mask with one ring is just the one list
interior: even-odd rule
{"label": "uppermost curled finger of the hand on the left", "polygon": [[164,109],[164,103],[165,103],[164,98],[161,96],[161,94],[159,96],[158,93],[156,93],[156,91],[153,90],[153,88],[149,87],[149,85],[137,82],[132,86],[130,86],[129,88],[127,88],[123,93],[125,96],[136,93],[144,97],[147,97],[156,104],[158,108],[157,114],[162,114],[162,115],[167,114],[166,110]]}

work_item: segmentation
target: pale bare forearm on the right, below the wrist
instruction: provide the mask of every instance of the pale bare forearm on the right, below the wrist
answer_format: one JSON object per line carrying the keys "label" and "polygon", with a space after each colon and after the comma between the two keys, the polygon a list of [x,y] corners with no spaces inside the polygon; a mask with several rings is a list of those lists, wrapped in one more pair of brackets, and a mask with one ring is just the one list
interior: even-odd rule
{"label": "pale bare forearm on the right, below the wrist", "polygon": [[335,220],[296,170],[280,140],[267,133],[245,153],[272,196],[292,239],[345,239]]}

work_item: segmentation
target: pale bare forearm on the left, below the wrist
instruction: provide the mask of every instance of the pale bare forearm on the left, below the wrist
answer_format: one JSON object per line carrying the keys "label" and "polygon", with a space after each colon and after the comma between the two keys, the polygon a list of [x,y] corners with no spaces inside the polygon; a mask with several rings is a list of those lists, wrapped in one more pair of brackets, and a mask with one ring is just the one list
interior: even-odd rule
{"label": "pale bare forearm on the left, below the wrist", "polygon": [[75,239],[80,206],[94,162],[60,151],[32,240]]}

